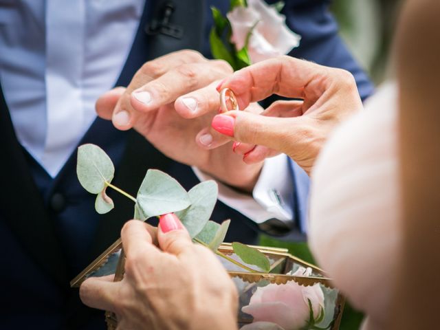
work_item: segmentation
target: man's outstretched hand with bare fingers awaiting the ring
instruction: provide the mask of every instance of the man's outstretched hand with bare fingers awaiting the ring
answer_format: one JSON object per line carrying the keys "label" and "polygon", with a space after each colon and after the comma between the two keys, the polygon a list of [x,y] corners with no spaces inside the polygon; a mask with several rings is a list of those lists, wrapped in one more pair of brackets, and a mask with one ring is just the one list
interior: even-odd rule
{"label": "man's outstretched hand with bare fingers awaiting the ring", "polygon": [[[183,50],[145,63],[130,85],[102,95],[100,117],[117,129],[134,128],[177,162],[197,166],[225,184],[252,190],[262,163],[244,164],[221,134],[208,129],[219,110],[219,80],[232,74],[224,61]],[[250,107],[258,112],[258,106]]]}

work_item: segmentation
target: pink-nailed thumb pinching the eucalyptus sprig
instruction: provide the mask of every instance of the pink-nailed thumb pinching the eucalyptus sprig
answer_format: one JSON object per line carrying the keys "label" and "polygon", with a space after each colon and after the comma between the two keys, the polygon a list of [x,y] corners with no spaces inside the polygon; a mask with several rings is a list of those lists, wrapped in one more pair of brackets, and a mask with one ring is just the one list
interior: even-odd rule
{"label": "pink-nailed thumb pinching the eucalyptus sprig", "polygon": [[164,214],[160,217],[157,241],[159,241],[159,248],[162,251],[176,256],[184,253],[188,248],[192,248],[188,230],[174,213]]}

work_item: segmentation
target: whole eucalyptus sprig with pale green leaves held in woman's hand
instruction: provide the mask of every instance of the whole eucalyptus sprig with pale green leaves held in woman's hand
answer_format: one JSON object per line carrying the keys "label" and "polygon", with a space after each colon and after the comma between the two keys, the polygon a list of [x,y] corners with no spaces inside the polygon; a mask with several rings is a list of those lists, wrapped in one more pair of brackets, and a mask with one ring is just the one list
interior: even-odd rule
{"label": "whole eucalyptus sprig with pale green leaves held in woman's hand", "polygon": [[113,162],[102,148],[94,144],[83,144],[78,148],[76,173],[85,190],[96,194],[96,212],[104,214],[114,208],[112,199],[106,194],[107,187],[112,188],[135,203],[134,219],[146,221],[151,217],[175,212],[196,243],[205,245],[217,255],[249,272],[259,270],[248,265],[256,265],[264,272],[269,272],[270,262],[267,257],[248,245],[232,243],[234,253],[248,265],[219,252],[219,245],[225,239],[230,220],[221,224],[209,220],[217,202],[218,186],[215,181],[203,181],[186,192],[170,175],[150,169],[147,170],[136,197],[133,197],[111,184],[115,173]]}

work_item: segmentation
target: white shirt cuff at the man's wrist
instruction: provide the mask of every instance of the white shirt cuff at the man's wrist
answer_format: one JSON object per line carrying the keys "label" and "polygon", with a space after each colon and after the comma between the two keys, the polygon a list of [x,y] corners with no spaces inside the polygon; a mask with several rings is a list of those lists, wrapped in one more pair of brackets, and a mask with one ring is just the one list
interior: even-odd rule
{"label": "white shirt cuff at the man's wrist", "polygon": [[[214,179],[192,166],[200,181]],[[255,223],[278,219],[286,224],[294,221],[294,184],[286,155],[267,158],[261,169],[252,196],[237,192],[217,181],[219,201],[239,211]]]}

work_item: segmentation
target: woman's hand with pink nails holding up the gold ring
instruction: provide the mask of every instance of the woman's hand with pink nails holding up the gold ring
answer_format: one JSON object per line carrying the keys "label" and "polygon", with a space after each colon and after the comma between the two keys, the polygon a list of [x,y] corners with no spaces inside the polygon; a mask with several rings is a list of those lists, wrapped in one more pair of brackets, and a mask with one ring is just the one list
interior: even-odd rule
{"label": "woman's hand with pink nails holding up the gold ring", "polygon": [[262,115],[229,111],[214,117],[212,128],[236,140],[234,152],[248,164],[282,152],[310,173],[332,129],[362,109],[349,72],[290,56],[241,69],[217,89],[225,87],[234,92],[240,109],[272,94],[298,99],[274,102]]}

